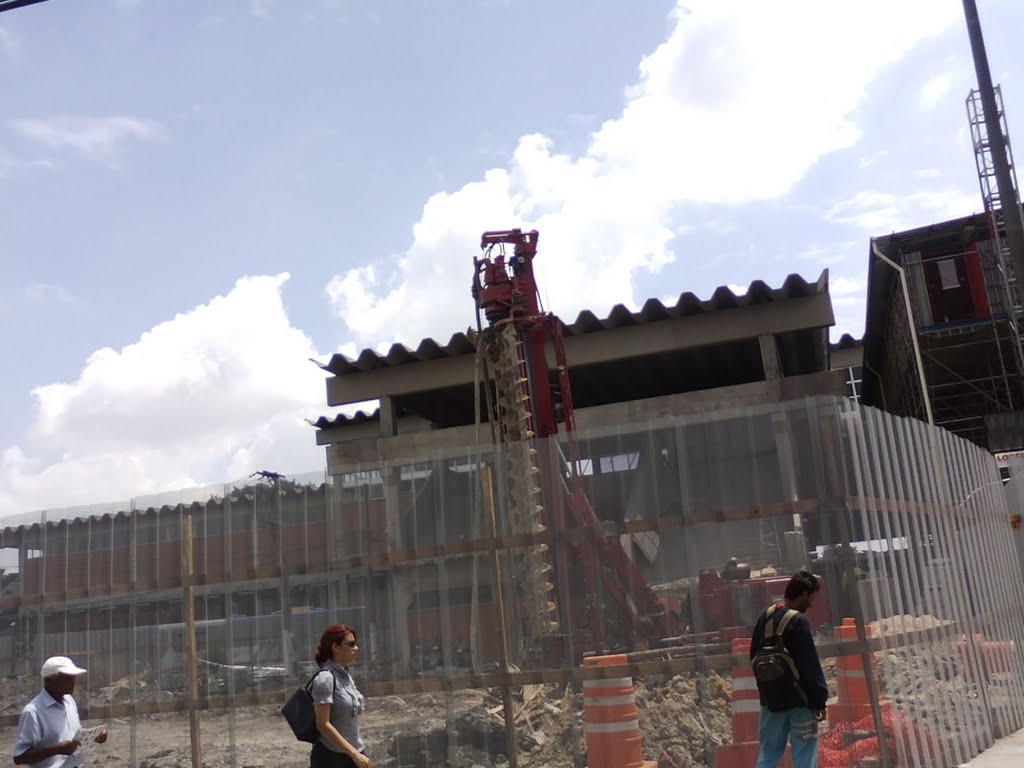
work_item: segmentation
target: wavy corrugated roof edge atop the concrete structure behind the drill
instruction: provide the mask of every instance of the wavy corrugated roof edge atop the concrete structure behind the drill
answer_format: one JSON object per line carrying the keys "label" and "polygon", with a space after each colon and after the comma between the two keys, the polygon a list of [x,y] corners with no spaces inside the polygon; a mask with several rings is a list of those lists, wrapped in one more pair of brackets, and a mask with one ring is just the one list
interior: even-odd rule
{"label": "wavy corrugated roof edge atop the concrete structure behind the drill", "polygon": [[[825,269],[814,283],[808,283],[799,274],[788,275],[779,288],[770,288],[764,281],[756,280],[741,296],[734,294],[728,287],[720,286],[708,300],[701,300],[692,293],[680,294],[674,306],[666,306],[657,299],[648,299],[639,312],[630,311],[623,304],[616,304],[605,317],[597,317],[591,310],[585,309],[573,323],[564,326],[566,338],[585,334],[600,333],[615,328],[626,328],[641,324],[686,317],[714,311],[725,311],[744,306],[756,306],[786,299],[797,299],[828,292],[828,270]],[[335,376],[375,371],[382,368],[396,368],[413,362],[422,362],[439,357],[457,357],[473,353],[472,342],[464,333],[455,334],[441,346],[433,339],[424,339],[416,349],[410,349],[403,344],[393,344],[385,354],[379,354],[373,349],[364,349],[354,359],[338,353],[327,364],[317,364],[325,371]],[[365,420],[372,420],[373,414],[365,415]],[[322,417],[322,420],[326,417]],[[352,417],[352,418],[357,418]],[[350,423],[340,421],[349,417],[336,417],[328,424]],[[317,421],[317,426],[319,421]]]}

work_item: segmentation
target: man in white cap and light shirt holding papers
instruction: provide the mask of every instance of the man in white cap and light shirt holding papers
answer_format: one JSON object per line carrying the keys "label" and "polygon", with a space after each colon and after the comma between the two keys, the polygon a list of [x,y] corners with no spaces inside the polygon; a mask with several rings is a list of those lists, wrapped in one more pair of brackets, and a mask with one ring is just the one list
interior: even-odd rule
{"label": "man in white cap and light shirt holding papers", "polygon": [[[72,694],[75,681],[85,670],[76,667],[68,656],[51,656],[43,663],[40,673],[43,690],[22,710],[14,739],[14,765],[32,765],[36,768],[74,768],[82,764],[82,755],[75,751],[81,746],[82,724],[78,719],[78,705]],[[102,730],[95,742],[106,740]]]}

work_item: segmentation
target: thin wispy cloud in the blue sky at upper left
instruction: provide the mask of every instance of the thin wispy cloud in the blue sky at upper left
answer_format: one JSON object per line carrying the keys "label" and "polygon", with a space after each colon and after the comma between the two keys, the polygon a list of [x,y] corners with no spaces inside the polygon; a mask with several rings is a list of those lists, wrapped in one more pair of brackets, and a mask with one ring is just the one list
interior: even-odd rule
{"label": "thin wispy cloud in the blue sky at upper left", "polygon": [[159,123],[126,115],[23,119],[12,120],[10,125],[24,138],[47,150],[72,152],[109,166],[116,166],[126,141],[165,136]]}

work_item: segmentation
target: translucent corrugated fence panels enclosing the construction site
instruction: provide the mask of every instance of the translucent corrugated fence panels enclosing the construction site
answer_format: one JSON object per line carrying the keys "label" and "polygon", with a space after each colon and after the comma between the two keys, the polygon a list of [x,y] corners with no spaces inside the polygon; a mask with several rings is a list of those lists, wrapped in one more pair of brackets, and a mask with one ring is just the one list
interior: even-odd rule
{"label": "translucent corrugated fence panels enclosing the construction site", "polygon": [[609,680],[648,760],[743,765],[745,639],[801,567],[824,584],[823,766],[953,766],[1024,726],[1016,468],[1007,484],[976,446],[838,398],[579,437],[18,521],[0,534],[4,733],[60,652],[112,730],[90,760],[186,765],[198,712],[209,766],[305,765],[276,710],[342,623],[376,765],[583,765],[588,738],[632,727],[594,727]]}

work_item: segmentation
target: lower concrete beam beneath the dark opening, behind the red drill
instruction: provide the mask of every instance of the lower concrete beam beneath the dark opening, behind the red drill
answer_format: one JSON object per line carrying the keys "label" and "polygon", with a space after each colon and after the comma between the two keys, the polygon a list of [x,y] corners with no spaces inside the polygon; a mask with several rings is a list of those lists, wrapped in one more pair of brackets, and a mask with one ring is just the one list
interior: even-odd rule
{"label": "lower concrete beam beneath the dark opening, behind the red drill", "polygon": [[[698,392],[649,397],[629,402],[612,402],[577,411],[577,429],[581,432],[602,428],[618,428],[629,424],[646,424],[674,416],[725,411],[749,406],[766,406],[773,402],[799,399],[810,395],[837,395],[846,393],[843,371],[826,371],[806,376],[790,376],[774,381],[758,381],[732,387],[717,387]],[[366,437],[345,440],[327,449],[328,472],[332,475],[352,471],[354,464],[381,465],[394,461],[424,461],[444,454],[465,456],[470,453],[479,434],[489,440],[489,430],[481,425],[451,427],[411,434],[398,433],[394,437]],[[479,444],[486,454],[489,442]]]}

